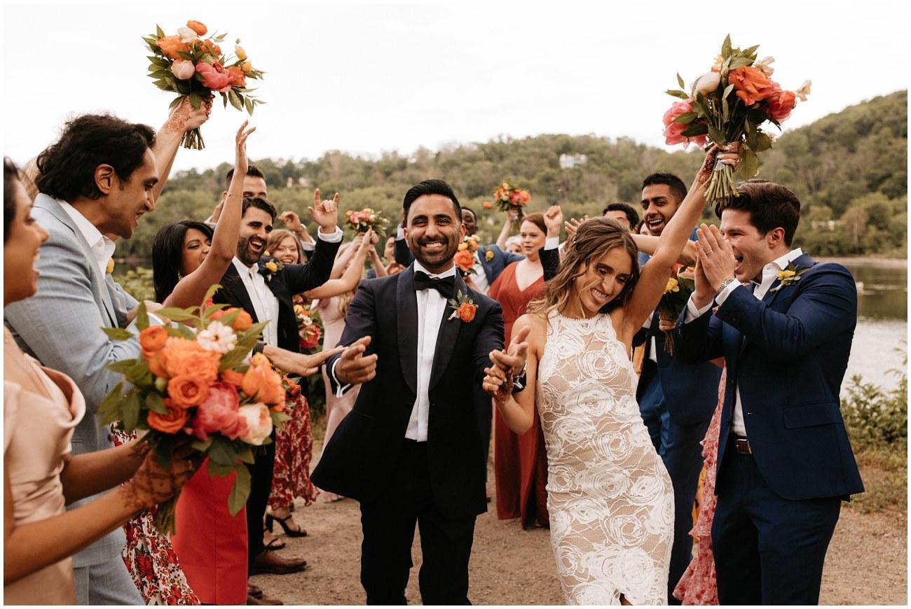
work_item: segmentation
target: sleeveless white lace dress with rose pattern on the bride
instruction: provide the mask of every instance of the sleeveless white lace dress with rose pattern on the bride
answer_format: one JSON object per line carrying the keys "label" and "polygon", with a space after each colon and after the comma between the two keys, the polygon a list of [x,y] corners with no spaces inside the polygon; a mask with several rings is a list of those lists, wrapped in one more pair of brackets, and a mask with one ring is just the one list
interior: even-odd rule
{"label": "sleeveless white lace dress with rose pattern on the bride", "polygon": [[667,604],[670,477],[609,315],[552,312],[537,369],[550,539],[567,604]]}

